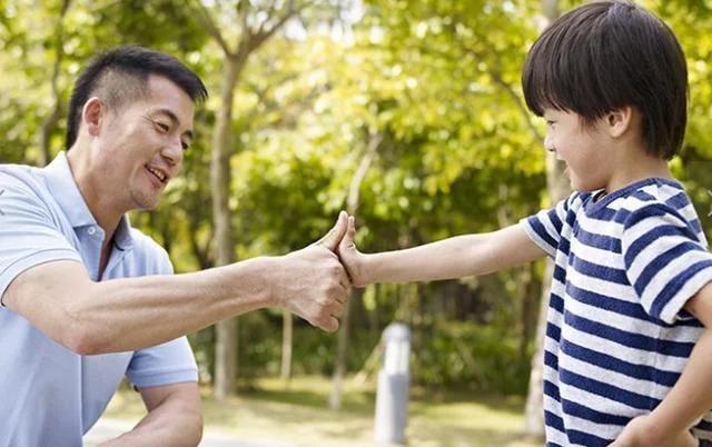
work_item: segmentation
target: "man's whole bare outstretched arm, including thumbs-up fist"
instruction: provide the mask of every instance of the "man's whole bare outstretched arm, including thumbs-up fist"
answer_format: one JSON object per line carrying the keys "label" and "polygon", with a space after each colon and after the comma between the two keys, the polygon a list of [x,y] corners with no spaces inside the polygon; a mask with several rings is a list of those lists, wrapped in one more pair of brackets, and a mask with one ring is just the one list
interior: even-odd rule
{"label": "man's whole bare outstretched arm, including thumbs-up fist", "polygon": [[48,262],[20,274],[3,302],[82,355],[156,346],[265,307],[335,331],[350,286],[334,254],[345,231],[342,213],[325,238],[299,251],[174,276],[93,282],[79,262]]}

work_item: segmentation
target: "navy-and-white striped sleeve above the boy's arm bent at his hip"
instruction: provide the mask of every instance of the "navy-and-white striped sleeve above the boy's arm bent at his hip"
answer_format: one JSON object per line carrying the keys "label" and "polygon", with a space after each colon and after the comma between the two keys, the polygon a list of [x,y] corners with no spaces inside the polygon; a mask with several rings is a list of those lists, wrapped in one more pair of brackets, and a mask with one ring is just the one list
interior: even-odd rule
{"label": "navy-and-white striped sleeve above the boy's arm bent at his hip", "polygon": [[673,324],[690,298],[712,281],[712,255],[671,207],[652,202],[623,222],[627,279],[653,318]]}

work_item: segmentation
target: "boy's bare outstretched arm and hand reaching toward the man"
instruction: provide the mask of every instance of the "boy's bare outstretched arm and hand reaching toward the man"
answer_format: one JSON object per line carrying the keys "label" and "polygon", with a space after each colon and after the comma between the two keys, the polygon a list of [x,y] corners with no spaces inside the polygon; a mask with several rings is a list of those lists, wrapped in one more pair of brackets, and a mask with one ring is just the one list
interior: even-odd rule
{"label": "boy's bare outstretched arm and hand reaching toward the man", "polygon": [[518,224],[493,232],[455,236],[378,254],[359,252],[354,245],[355,234],[354,217],[349,216],[338,256],[357,287],[485,275],[546,256]]}

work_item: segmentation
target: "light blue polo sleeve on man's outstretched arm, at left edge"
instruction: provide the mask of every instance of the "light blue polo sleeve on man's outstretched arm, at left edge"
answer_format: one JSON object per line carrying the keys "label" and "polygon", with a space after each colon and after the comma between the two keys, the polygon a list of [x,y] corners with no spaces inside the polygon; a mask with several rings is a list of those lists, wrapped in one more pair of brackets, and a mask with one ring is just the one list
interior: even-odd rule
{"label": "light blue polo sleeve on man's outstretched arm, at left edge", "polygon": [[81,256],[31,183],[0,170],[0,302],[20,274],[56,260]]}

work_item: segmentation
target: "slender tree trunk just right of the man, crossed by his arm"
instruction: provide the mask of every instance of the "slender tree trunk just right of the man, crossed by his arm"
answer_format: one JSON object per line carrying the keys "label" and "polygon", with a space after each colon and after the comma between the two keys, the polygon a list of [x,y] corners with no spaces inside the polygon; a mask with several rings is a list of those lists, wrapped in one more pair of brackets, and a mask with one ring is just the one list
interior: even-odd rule
{"label": "slender tree trunk just right of the man, crossed by his arm", "polygon": [[[215,226],[215,264],[226,266],[235,261],[233,247],[230,191],[230,125],[233,122],[233,96],[243,66],[239,60],[227,57],[220,89],[221,107],[215,123],[210,186],[212,189],[212,221]],[[214,397],[222,400],[235,393],[237,377],[238,339],[237,318],[217,324],[215,344]]]}

